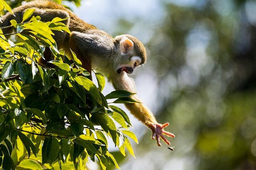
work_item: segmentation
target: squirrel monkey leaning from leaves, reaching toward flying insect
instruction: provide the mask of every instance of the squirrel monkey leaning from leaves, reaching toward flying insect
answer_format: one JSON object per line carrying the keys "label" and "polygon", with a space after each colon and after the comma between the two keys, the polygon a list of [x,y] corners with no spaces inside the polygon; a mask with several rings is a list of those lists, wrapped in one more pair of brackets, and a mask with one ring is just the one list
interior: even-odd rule
{"label": "squirrel monkey leaning from leaves, reaching toward flying insect", "polygon": [[[102,71],[116,90],[135,92],[134,81],[127,73],[132,73],[136,67],[146,62],[146,49],[137,38],[130,35],[112,38],[108,33],[98,30],[70,10],[50,0],[34,0],[14,8],[14,15],[7,13],[2,17],[3,22],[0,23],[0,27],[9,26],[10,20],[13,19],[20,23],[24,11],[28,8],[35,8],[33,16],[40,16],[43,22],[49,22],[55,17],[68,18],[62,22],[68,26],[71,34],[54,31],[53,38],[58,48],[64,49],[69,57],[72,57],[70,49],[74,51],[82,62],[82,67],[88,72],[91,72],[92,68]],[[3,32],[7,34],[12,32],[12,29],[4,29]],[[44,58],[45,60],[42,57],[38,60],[41,65],[45,65],[51,58],[50,49],[47,47]],[[140,101],[136,95],[132,97]],[[160,138],[166,144],[170,144],[164,137],[164,134],[175,137],[174,134],[164,130],[169,123],[163,125],[157,123],[153,113],[143,103],[125,104],[125,106],[134,117],[152,130],[152,139],[157,140],[158,146],[161,146]]]}

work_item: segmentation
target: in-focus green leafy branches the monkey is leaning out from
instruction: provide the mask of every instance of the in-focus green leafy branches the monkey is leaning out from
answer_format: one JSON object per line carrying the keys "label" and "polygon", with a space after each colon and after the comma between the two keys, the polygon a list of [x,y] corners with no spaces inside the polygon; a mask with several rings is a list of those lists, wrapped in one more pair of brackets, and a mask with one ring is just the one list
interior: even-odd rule
{"label": "in-focus green leafy branches the monkey is leaning out from", "polygon": [[[9,9],[0,2],[0,9]],[[134,103],[129,98],[134,93],[114,91],[104,97],[103,75],[96,73],[97,88],[74,53],[70,61],[57,49],[52,31],[69,32],[62,19],[44,23],[33,12],[26,10],[22,23],[12,20],[10,27],[2,28],[14,28],[12,35],[21,42],[7,40],[0,30],[0,165],[5,170],[62,164],[71,169],[73,162],[73,168],[86,169],[88,159],[97,158],[103,169],[110,163],[119,168],[107,138],[124,156],[125,148],[134,156],[127,136],[138,140],[128,130],[126,113],[106,99]],[[55,58],[47,64],[50,67],[38,64],[46,48]]]}

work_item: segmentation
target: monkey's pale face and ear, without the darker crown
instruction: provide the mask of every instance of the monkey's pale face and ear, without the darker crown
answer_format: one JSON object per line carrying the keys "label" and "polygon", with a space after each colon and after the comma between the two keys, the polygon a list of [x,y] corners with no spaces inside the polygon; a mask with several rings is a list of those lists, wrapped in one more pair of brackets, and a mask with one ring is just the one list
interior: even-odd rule
{"label": "monkey's pale face and ear, without the darker crown", "polygon": [[141,57],[134,56],[134,43],[132,40],[124,37],[119,44],[119,63],[116,72],[121,74],[123,71],[131,74],[133,70],[141,64]]}

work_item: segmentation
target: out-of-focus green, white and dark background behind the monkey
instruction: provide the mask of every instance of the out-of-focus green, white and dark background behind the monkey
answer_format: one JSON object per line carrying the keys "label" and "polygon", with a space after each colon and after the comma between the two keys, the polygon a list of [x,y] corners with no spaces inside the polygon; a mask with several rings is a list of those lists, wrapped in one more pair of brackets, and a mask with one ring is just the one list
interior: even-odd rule
{"label": "out-of-focus green, white and dark background behind the monkey", "polygon": [[256,1],[90,0],[70,6],[112,36],[128,33],[145,43],[148,61],[136,73],[138,93],[150,93],[145,103],[153,101],[158,122],[169,121],[176,134],[172,152],[157,147],[149,130],[135,128],[142,133],[136,159],[122,162],[122,169],[256,168]]}

